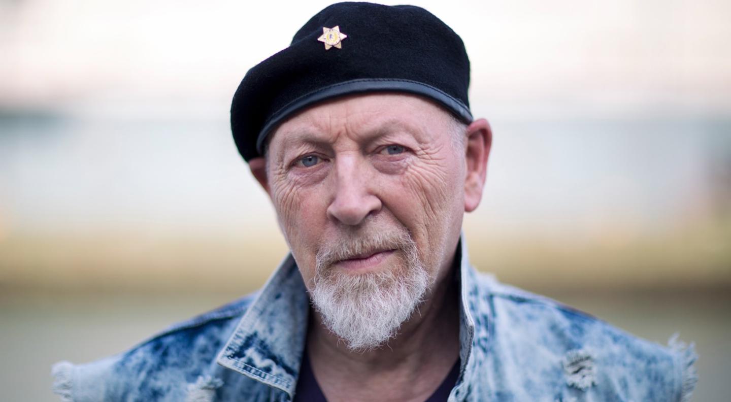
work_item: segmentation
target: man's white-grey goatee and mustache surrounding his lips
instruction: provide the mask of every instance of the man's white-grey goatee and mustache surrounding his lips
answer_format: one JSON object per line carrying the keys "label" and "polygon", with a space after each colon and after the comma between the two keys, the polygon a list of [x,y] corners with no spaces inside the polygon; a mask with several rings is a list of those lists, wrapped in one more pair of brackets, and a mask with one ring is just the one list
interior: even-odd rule
{"label": "man's white-grey goatee and mustache surrounding his lips", "polygon": [[[349,274],[331,267],[334,262],[374,249],[398,249],[401,260],[393,269]],[[423,301],[431,278],[421,262],[416,243],[405,228],[372,235],[344,236],[317,254],[311,289],[314,308],[327,329],[352,351],[366,352],[398,335]]]}

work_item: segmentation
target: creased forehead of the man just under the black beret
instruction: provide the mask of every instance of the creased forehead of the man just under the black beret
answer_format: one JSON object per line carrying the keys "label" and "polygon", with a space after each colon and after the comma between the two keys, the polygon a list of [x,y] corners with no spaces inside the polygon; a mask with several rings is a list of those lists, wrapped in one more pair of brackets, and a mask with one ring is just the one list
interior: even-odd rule
{"label": "creased forehead of the man just under the black beret", "polygon": [[270,134],[270,147],[303,137],[374,135],[389,129],[423,132],[451,121],[450,113],[429,99],[411,94],[360,94],[321,102],[293,115]]}

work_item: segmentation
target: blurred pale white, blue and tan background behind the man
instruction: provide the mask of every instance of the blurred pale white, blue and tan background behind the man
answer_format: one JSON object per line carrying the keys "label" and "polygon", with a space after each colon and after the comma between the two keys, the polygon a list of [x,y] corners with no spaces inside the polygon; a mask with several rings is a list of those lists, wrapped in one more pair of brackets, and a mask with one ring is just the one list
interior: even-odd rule
{"label": "blurred pale white, blue and tan background behind the man", "polygon": [[[413,3],[463,37],[493,127],[474,265],[661,344],[679,332],[694,401],[728,401],[731,3]],[[273,272],[287,246],[230,100],[327,4],[0,0],[4,401],[56,401],[51,363]]]}

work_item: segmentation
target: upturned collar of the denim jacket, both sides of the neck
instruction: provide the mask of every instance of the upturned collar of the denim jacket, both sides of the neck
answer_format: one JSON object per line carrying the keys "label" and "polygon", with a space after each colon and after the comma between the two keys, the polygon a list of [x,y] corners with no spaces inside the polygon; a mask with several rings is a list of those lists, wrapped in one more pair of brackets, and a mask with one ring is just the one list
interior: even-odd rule
{"label": "upturned collar of the denim jacket, both sides of the neck", "polygon": [[[487,351],[488,311],[469,263],[464,234],[456,254],[460,283],[460,375],[455,397],[469,392],[474,365]],[[216,362],[258,382],[295,392],[305,346],[309,298],[292,254],[279,265],[221,349]],[[475,320],[480,325],[475,327]]]}

